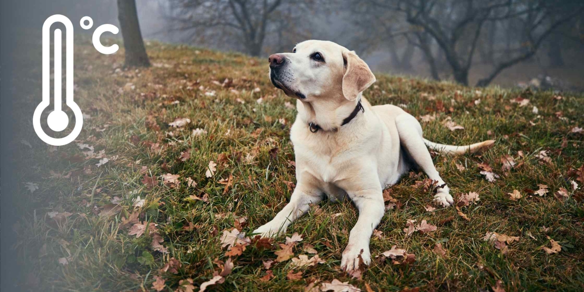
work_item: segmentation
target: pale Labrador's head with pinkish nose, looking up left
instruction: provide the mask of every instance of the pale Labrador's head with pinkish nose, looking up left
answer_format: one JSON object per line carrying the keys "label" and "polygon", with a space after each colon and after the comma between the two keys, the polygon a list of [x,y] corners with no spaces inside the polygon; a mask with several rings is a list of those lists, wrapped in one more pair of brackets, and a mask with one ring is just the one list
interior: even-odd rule
{"label": "pale Labrador's head with pinkish nose, looking up left", "polygon": [[307,102],[322,96],[354,100],[375,82],[369,66],[354,51],[332,41],[303,41],[292,53],[273,54],[268,60],[272,84]]}

